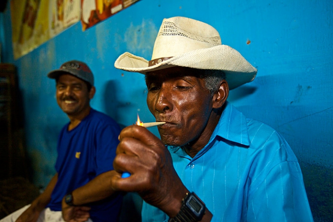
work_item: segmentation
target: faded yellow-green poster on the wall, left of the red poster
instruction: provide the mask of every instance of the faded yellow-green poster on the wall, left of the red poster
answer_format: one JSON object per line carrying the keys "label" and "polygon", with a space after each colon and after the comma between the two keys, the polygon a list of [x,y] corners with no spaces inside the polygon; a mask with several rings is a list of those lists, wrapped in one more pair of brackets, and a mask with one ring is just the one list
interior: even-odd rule
{"label": "faded yellow-green poster on the wall, left of the red poster", "polygon": [[80,21],[81,0],[11,0],[14,59]]}

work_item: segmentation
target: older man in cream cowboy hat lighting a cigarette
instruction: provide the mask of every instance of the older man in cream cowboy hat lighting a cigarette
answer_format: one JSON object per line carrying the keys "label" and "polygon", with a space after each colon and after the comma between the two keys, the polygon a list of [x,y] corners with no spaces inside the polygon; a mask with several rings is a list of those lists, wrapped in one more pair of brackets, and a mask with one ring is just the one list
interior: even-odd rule
{"label": "older man in cream cowboy hat lighting a cigarette", "polygon": [[145,74],[149,110],[166,122],[161,140],[136,125],[119,136],[112,188],[139,193],[142,221],[313,221],[286,141],[227,101],[257,70],[216,29],[164,19],[151,61],[124,53],[115,67]]}

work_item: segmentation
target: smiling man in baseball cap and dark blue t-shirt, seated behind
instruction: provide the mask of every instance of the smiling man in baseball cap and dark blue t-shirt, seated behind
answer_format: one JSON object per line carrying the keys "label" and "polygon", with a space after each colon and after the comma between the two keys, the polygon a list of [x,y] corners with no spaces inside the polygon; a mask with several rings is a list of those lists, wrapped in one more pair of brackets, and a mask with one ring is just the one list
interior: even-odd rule
{"label": "smiling man in baseball cap and dark blue t-shirt, seated behind", "polygon": [[56,174],[31,205],[1,222],[117,222],[122,196],[108,178],[120,127],[90,107],[96,89],[85,63],[66,62],[48,77],[56,79],[58,105],[70,119],[59,136]]}

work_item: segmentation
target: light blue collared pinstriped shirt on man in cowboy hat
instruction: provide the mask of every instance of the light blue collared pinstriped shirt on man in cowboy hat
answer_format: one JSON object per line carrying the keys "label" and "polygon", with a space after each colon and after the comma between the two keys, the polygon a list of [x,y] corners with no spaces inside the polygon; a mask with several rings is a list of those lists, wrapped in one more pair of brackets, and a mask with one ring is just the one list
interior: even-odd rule
{"label": "light blue collared pinstriped shirt on man in cowboy hat", "polygon": [[[271,127],[247,119],[230,103],[210,141],[193,158],[167,147],[188,190],[213,214],[212,222],[313,222],[297,158]],[[144,203],[143,222],[168,216]]]}

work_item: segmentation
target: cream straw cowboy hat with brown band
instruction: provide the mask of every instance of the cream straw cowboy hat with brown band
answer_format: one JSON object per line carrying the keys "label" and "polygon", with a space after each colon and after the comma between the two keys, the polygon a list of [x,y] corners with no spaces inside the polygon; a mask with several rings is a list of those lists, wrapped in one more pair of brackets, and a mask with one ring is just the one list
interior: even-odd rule
{"label": "cream straw cowboy hat with brown band", "polygon": [[221,70],[226,74],[229,89],[252,81],[257,73],[239,52],[222,45],[215,28],[186,17],[163,20],[151,61],[126,52],[118,57],[114,66],[141,74],[174,66]]}

